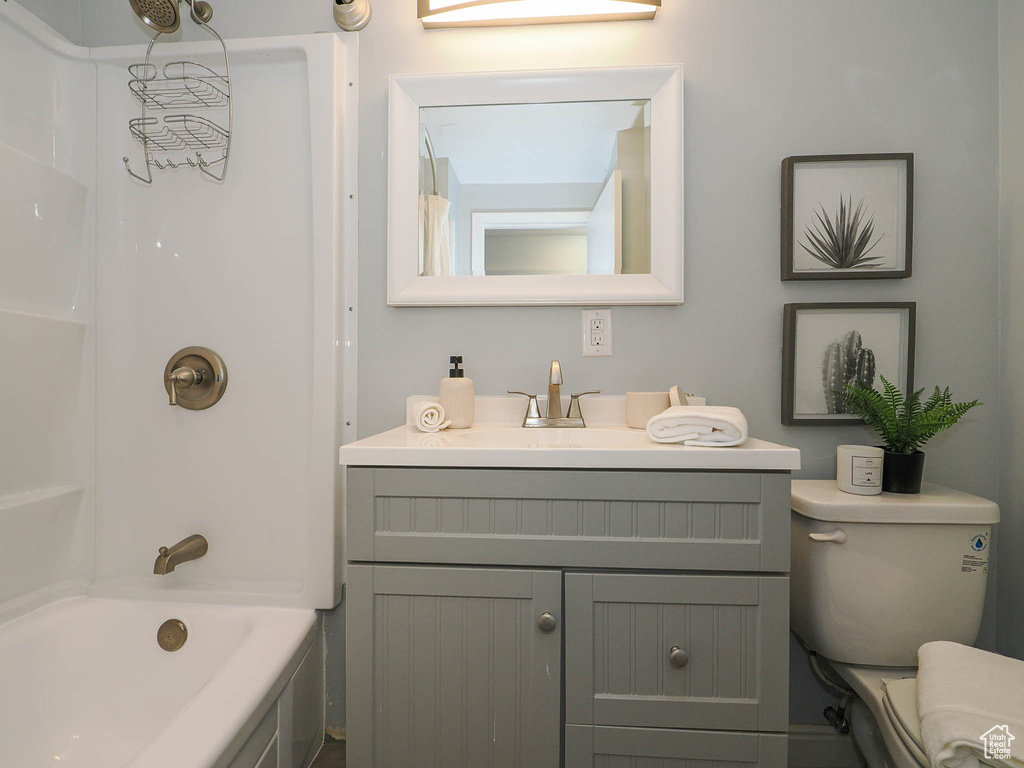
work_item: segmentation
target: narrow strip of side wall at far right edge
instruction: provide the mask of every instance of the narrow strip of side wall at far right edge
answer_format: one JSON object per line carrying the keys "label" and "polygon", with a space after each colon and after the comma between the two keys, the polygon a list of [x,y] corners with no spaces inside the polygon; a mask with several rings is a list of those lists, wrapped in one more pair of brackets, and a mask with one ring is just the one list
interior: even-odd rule
{"label": "narrow strip of side wall at far right edge", "polygon": [[1024,658],[1024,3],[999,2],[1002,439],[998,647]]}

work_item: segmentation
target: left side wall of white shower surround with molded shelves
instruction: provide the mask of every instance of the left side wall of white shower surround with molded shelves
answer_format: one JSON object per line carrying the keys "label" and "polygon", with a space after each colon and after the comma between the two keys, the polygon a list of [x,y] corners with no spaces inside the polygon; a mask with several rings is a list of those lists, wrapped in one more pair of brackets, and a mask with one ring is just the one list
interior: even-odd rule
{"label": "left side wall of white shower surround with molded shelves", "polygon": [[0,621],[93,572],[95,69],[0,7]]}

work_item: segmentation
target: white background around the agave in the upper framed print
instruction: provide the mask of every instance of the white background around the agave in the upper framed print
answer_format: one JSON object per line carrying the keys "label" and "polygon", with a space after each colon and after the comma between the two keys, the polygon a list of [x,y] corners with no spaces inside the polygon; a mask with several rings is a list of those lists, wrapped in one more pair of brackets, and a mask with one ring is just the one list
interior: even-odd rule
{"label": "white background around the agave in the upper framed print", "polygon": [[[838,273],[899,270],[906,267],[906,171],[905,160],[837,161],[797,163],[793,174],[793,270]],[[873,269],[837,269],[815,259],[801,247],[808,245],[807,230],[821,230],[814,215],[824,206],[830,221],[839,211],[840,197],[856,210],[864,201],[866,221],[874,216],[871,256],[881,256]],[[852,212],[851,212],[852,214]]]}

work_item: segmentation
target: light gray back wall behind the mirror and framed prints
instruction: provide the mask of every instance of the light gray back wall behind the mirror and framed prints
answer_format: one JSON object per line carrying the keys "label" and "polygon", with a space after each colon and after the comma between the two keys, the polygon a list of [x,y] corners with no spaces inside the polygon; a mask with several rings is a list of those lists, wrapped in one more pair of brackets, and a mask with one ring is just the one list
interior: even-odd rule
{"label": "light gray back wall behind the mirror and framed prints", "polygon": [[[781,426],[782,305],[912,300],[918,385],[949,385],[988,403],[933,441],[926,479],[996,494],[996,0],[673,0],[652,23],[430,33],[412,0],[372,2],[373,19],[359,33],[360,435],[400,423],[406,395],[435,392],[452,353],[465,356],[480,394],[541,389],[548,361],[558,358],[578,389],[678,383],[738,406],[753,434],[801,449],[799,476],[831,477],[836,445],[871,437],[855,427]],[[227,37],[337,32],[327,0],[214,4]],[[123,0],[97,6],[81,20],[87,45],[145,39]],[[579,308],[386,306],[389,75],[675,61],[686,82],[683,306],[615,308],[614,356],[586,359]],[[914,276],[780,283],[782,158],[908,151],[916,163]],[[1013,597],[1013,586],[1019,601],[1024,575],[1013,579],[1004,594]],[[994,639],[989,618],[980,642]],[[824,696],[804,660],[794,662],[793,719],[816,722]]]}

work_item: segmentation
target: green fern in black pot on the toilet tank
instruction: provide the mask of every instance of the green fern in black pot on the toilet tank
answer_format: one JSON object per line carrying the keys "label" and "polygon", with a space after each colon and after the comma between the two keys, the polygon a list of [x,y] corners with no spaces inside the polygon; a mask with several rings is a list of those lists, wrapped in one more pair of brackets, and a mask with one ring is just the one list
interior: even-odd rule
{"label": "green fern in black pot on the toilet tank", "polygon": [[949,429],[968,411],[983,403],[978,400],[953,402],[949,387],[938,387],[925,401],[924,389],[903,396],[898,387],[882,377],[884,391],[859,382],[849,382],[836,395],[848,414],[856,414],[879,433],[884,443],[882,489],[893,494],[920,494],[925,471],[925,443]]}

